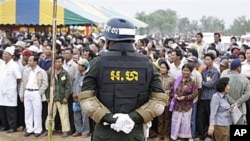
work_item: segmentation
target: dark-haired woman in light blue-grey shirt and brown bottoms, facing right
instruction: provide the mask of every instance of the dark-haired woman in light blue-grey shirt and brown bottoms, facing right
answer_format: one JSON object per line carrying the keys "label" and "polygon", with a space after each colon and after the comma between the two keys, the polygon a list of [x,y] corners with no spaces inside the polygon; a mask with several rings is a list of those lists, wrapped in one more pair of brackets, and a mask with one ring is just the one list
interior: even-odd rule
{"label": "dark-haired woman in light blue-grey shirt and brown bottoms, facing right", "polygon": [[229,78],[223,77],[216,84],[217,93],[211,99],[210,125],[208,134],[214,136],[214,141],[229,141],[229,126],[232,124],[230,104],[226,96],[229,93]]}

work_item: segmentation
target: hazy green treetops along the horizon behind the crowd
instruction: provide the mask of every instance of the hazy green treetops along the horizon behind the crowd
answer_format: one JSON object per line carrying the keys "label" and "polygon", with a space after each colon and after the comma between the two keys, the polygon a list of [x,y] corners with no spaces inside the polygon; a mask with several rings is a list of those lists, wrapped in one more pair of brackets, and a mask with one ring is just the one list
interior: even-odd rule
{"label": "hazy green treetops along the horizon behind the crowd", "polygon": [[242,35],[250,32],[250,19],[247,20],[244,16],[234,19],[229,29],[225,29],[223,19],[202,16],[199,20],[190,21],[187,17],[178,17],[177,12],[170,9],[157,10],[149,14],[140,12],[136,14],[136,18],[149,25],[146,29],[140,30],[142,34],[224,32],[227,35]]}

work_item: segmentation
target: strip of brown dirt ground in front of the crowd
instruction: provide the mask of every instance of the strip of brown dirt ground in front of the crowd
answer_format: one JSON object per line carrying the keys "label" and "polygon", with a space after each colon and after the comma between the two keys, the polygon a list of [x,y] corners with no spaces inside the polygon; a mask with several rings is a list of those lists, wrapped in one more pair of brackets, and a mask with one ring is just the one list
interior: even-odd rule
{"label": "strip of brown dirt ground in front of the crowd", "polygon": [[[5,132],[0,132],[0,141],[47,141],[47,137],[34,137],[31,135],[29,137],[24,137],[24,132],[15,132],[12,134],[7,134]],[[91,138],[81,138],[81,137],[67,137],[62,138],[60,133],[56,133],[52,136],[52,141],[90,141]],[[148,139],[147,141],[153,141],[153,139]]]}

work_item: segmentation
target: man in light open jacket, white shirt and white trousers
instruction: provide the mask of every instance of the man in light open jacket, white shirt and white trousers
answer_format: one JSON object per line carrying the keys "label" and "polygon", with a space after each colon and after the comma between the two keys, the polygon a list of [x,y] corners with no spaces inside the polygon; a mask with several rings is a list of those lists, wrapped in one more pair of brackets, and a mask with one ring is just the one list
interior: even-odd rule
{"label": "man in light open jacket, white shirt and white trousers", "polygon": [[25,137],[32,133],[38,137],[42,133],[42,95],[48,87],[47,73],[38,64],[39,57],[29,57],[27,67],[23,72],[23,79],[20,86],[20,100],[24,102],[25,108]]}

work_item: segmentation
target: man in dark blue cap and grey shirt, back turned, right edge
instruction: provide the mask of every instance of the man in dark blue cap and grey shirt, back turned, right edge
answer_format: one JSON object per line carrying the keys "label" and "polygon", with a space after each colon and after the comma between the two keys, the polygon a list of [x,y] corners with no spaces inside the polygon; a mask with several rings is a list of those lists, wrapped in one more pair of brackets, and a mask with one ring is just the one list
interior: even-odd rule
{"label": "man in dark blue cap and grey shirt, back turned, right edge", "polygon": [[227,95],[231,107],[238,106],[243,116],[238,121],[238,125],[246,125],[246,101],[250,98],[249,80],[241,72],[241,62],[234,59],[230,65],[231,72],[228,75],[230,82],[230,92]]}

